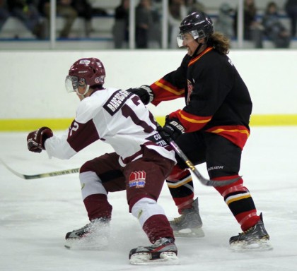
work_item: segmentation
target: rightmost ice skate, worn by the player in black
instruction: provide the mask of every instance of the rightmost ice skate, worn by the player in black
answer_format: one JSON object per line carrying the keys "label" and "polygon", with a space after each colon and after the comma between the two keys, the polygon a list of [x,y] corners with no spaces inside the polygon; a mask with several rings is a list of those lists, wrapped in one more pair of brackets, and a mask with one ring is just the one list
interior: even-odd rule
{"label": "rightmost ice skate, worn by the player in black", "polygon": [[254,227],[232,236],[229,243],[234,251],[269,251],[272,249],[269,234],[264,228],[262,213],[260,221]]}

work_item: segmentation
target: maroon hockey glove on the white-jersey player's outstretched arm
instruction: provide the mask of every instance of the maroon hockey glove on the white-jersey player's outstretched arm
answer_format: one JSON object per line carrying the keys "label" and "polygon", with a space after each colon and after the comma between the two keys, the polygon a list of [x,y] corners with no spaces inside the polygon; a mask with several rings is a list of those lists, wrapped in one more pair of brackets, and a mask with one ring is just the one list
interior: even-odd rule
{"label": "maroon hockey glove on the white-jersey player's outstretched arm", "polygon": [[33,131],[27,136],[27,146],[30,152],[41,152],[45,150],[45,140],[51,138],[52,130],[48,127],[41,127],[36,131]]}

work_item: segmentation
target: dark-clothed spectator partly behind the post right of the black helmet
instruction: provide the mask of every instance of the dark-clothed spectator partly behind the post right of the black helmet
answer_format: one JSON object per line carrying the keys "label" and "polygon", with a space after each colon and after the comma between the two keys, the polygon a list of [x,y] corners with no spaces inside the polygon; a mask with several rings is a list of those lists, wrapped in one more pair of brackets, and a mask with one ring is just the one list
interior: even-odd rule
{"label": "dark-clothed spectator partly behind the post right of the black helmet", "polygon": [[[245,0],[243,2],[243,38],[244,40],[252,40],[255,42],[256,48],[263,48],[263,26],[257,21],[257,7],[254,0]],[[234,16],[234,34],[237,36],[238,30],[238,11]]]}

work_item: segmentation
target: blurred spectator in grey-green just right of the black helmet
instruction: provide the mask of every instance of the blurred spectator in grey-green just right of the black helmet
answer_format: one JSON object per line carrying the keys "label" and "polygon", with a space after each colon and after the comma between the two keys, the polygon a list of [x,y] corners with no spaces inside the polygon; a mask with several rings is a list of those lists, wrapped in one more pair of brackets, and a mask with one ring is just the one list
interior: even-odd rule
{"label": "blurred spectator in grey-green just right of the black helmet", "polygon": [[221,4],[219,15],[216,20],[216,31],[221,32],[226,37],[233,37],[233,8],[228,3]]}

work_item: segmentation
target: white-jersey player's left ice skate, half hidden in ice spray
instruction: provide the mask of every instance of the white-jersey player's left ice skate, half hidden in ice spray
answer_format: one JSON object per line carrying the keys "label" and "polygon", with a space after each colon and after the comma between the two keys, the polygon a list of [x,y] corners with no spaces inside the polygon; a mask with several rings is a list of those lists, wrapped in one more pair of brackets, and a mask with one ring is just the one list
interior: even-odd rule
{"label": "white-jersey player's left ice skate, half hidden in ice spray", "polygon": [[81,229],[75,229],[66,234],[65,247],[81,250],[102,250],[108,246],[110,219],[101,217]]}

